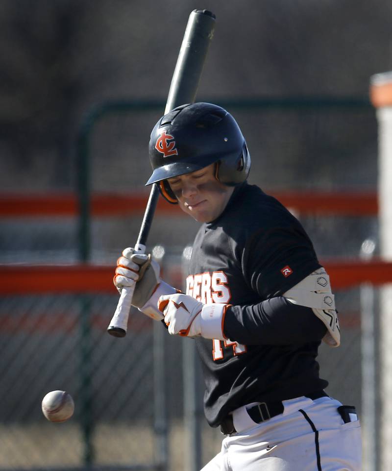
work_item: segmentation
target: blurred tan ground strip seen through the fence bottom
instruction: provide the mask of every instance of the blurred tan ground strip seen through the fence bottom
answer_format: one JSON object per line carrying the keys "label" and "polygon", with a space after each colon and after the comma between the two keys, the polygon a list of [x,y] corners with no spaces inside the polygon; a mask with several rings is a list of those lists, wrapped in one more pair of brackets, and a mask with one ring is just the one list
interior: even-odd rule
{"label": "blurred tan ground strip seen through the fence bottom", "polygon": [[[221,448],[222,435],[207,425],[202,431],[202,462]],[[150,426],[99,424],[93,434],[96,465],[148,465],[154,462],[155,445]],[[169,435],[169,471],[184,471],[189,456],[187,433],[173,423]],[[84,445],[80,427],[67,423],[0,425],[0,471],[53,469],[83,466]]]}

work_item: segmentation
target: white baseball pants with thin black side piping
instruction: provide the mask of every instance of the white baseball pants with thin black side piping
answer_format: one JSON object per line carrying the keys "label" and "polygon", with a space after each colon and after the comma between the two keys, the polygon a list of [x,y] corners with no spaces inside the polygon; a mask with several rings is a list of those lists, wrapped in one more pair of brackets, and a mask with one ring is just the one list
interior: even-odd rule
{"label": "white baseball pants with thin black side piping", "polygon": [[256,423],[246,406],[233,412],[236,433],[226,436],[201,471],[361,471],[361,425],[344,423],[331,397],[283,401],[283,414]]}

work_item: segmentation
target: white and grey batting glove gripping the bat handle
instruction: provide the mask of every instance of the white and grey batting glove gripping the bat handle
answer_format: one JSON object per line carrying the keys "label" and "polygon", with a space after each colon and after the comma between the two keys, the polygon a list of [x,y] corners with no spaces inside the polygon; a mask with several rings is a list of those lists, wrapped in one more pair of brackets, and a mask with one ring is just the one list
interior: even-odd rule
{"label": "white and grey batting glove gripping the bat handle", "polygon": [[128,247],[117,260],[113,279],[119,293],[124,286],[135,285],[132,306],[155,321],[163,319],[157,308],[158,298],[164,294],[176,293],[175,288],[161,280],[159,273],[160,267],[157,262],[151,260],[150,254],[134,253],[134,249]]}

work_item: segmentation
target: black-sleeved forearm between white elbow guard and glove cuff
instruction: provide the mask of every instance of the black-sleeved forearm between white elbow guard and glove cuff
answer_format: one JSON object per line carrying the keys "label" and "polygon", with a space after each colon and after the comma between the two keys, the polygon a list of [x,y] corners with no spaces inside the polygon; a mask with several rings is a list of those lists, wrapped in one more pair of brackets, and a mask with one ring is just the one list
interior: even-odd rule
{"label": "black-sleeved forearm between white elbow guard and glove cuff", "polygon": [[244,345],[317,342],[325,332],[325,325],[312,309],[294,305],[284,297],[250,306],[231,306],[223,325],[225,337]]}

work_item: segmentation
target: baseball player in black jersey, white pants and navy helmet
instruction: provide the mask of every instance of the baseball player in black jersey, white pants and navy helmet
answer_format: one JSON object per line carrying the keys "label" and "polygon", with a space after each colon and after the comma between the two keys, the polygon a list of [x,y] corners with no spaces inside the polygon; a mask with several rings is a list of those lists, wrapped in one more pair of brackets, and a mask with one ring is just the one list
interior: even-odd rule
{"label": "baseball player in black jersey, white pants and navy helmet", "polygon": [[196,340],[205,416],[224,434],[202,471],[360,471],[355,407],[327,395],[316,361],[321,341],[340,344],[328,274],[294,216],[247,183],[238,124],[214,104],[182,105],[155,125],[149,153],[147,185],[202,223],[186,294],[132,248],[114,282],[136,283],[140,311]]}

